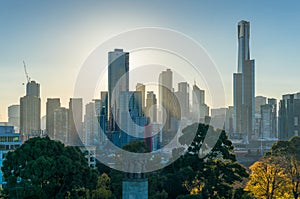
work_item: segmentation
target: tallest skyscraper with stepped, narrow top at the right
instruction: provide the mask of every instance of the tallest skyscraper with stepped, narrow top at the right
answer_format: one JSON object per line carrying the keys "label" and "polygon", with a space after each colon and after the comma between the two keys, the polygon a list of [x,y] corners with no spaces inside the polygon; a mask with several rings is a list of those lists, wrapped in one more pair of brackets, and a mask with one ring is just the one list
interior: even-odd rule
{"label": "tallest skyscraper with stepped, narrow top at the right", "polygon": [[255,116],[254,60],[250,60],[250,23],[238,23],[238,71],[233,74],[234,130],[251,139]]}

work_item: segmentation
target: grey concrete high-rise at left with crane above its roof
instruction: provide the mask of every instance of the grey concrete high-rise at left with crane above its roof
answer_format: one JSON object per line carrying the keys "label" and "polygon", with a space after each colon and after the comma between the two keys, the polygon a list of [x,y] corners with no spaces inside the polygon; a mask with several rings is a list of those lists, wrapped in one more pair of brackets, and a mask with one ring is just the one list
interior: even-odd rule
{"label": "grey concrete high-rise at left with crane above its roof", "polygon": [[27,83],[26,95],[20,99],[20,134],[23,141],[41,134],[40,85]]}

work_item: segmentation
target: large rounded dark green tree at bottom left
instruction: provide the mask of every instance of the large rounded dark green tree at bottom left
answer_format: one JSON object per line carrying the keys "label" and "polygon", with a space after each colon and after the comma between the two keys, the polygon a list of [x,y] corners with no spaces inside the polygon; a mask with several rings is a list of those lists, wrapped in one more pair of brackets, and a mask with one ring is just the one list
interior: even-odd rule
{"label": "large rounded dark green tree at bottom left", "polygon": [[75,198],[76,190],[94,190],[97,173],[77,147],[48,137],[27,140],[3,161],[8,198]]}

